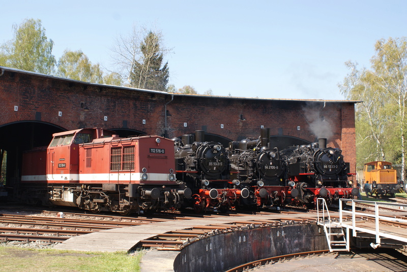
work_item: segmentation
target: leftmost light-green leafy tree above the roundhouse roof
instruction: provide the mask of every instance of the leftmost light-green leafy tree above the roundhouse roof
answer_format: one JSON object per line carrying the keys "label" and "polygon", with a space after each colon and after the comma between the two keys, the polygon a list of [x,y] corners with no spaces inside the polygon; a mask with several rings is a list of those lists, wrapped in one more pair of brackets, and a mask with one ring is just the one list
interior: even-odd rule
{"label": "leftmost light-green leafy tree above the roundhouse roof", "polygon": [[13,29],[14,39],[0,47],[0,65],[51,75],[56,62],[53,42],[45,36],[41,20],[26,19]]}

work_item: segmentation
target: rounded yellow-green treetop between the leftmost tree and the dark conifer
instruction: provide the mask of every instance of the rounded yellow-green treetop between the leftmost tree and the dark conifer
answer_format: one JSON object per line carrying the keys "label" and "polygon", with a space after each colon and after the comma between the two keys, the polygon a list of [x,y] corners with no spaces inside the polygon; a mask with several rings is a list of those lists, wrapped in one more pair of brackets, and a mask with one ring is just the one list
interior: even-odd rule
{"label": "rounded yellow-green treetop between the leftmost tree and the dark conifer", "polygon": [[100,70],[99,64],[92,65],[81,50],[65,50],[58,61],[56,75],[85,82],[103,83],[103,72]]}

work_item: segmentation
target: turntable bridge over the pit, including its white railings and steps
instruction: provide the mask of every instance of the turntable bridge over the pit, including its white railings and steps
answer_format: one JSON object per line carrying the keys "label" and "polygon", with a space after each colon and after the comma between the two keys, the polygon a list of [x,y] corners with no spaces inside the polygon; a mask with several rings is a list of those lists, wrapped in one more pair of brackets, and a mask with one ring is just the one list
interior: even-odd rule
{"label": "turntable bridge over the pit, including its white railings and steps", "polygon": [[[349,251],[350,244],[357,248],[401,249],[407,245],[407,205],[373,202],[354,199],[340,199],[339,221],[332,220],[325,199],[318,198],[317,224],[324,228],[330,252]],[[352,202],[352,211],[345,210],[346,202]],[[355,203],[373,203],[374,214],[356,211]],[[398,206],[400,212],[386,214],[379,208]],[[319,207],[322,207],[320,210]],[[348,219],[351,217],[351,220]],[[352,236],[351,236],[352,235]]]}

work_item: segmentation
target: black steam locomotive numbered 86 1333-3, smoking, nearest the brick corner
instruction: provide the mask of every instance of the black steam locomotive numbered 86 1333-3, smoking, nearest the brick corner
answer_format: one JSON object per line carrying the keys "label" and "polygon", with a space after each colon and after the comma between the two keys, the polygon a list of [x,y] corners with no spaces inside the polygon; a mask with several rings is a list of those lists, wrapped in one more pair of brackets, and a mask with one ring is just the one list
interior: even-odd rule
{"label": "black steam locomotive numbered 86 1333-3, smoking, nearest the brick corner", "polygon": [[281,151],[287,161],[288,179],[295,182],[291,196],[299,205],[314,205],[318,197],[332,203],[358,194],[353,181],[348,180],[350,167],[342,151],[327,147],[326,139],[318,141]]}

